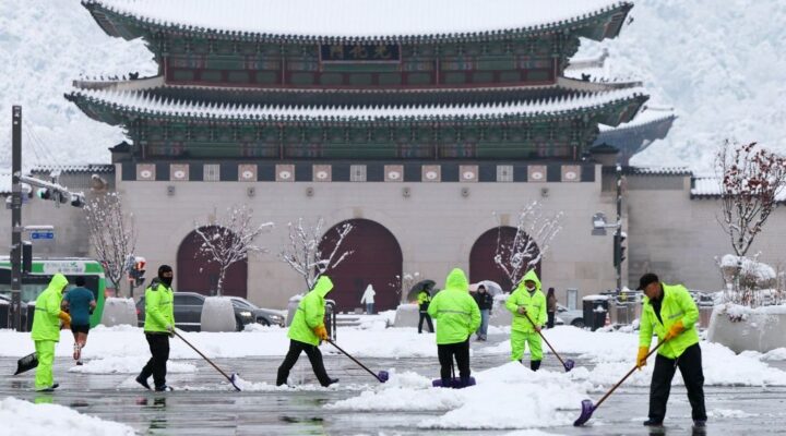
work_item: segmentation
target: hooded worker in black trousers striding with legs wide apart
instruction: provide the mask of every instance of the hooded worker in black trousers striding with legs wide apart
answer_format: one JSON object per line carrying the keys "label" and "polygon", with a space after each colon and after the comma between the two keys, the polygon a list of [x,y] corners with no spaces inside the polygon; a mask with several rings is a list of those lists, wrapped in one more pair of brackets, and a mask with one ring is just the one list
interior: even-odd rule
{"label": "hooded worker in black trousers striding with legs wide apart", "polygon": [[337,378],[327,376],[327,371],[325,371],[322,361],[322,353],[319,350],[320,341],[329,339],[327,329],[324,325],[324,305],[325,295],[332,289],[333,282],[330,277],[321,276],[313,289],[300,300],[287,332],[289,351],[284,358],[284,362],[278,366],[276,386],[287,383],[289,371],[295,366],[300,353],[303,351],[311,362],[311,368],[320,385],[327,387],[338,382]]}

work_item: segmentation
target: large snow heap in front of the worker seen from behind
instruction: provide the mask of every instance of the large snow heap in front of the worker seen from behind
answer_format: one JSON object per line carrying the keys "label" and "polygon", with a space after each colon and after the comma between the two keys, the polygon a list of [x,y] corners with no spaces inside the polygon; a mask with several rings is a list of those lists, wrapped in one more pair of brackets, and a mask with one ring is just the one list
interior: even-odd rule
{"label": "large snow heap in front of the worker seen from behind", "polygon": [[[431,380],[403,374],[396,383],[381,385],[358,397],[327,404],[332,410],[416,411],[446,413],[424,419],[420,428],[534,428],[570,425],[576,409],[586,398],[582,387],[561,373],[533,373],[517,362],[475,373],[477,385],[465,389],[432,388]],[[523,407],[523,398],[526,399]],[[493,404],[493,407],[490,407]]]}

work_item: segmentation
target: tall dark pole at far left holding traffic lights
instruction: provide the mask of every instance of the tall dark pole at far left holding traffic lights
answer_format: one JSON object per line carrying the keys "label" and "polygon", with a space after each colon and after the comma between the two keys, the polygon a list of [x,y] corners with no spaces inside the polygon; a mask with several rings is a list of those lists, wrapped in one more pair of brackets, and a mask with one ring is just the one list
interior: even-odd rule
{"label": "tall dark pole at far left holding traffic lights", "polygon": [[9,325],[22,331],[22,107],[11,108],[11,311]]}

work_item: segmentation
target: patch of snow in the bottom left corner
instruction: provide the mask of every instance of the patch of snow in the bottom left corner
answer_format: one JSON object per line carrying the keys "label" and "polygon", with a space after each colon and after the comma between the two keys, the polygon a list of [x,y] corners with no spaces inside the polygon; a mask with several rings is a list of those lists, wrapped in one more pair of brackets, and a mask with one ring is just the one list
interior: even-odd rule
{"label": "patch of snow in the bottom left corner", "polygon": [[[51,397],[39,397],[51,400]],[[132,436],[128,425],[84,415],[58,404],[37,403],[7,397],[0,401],[0,423],[4,435],[14,436]]]}

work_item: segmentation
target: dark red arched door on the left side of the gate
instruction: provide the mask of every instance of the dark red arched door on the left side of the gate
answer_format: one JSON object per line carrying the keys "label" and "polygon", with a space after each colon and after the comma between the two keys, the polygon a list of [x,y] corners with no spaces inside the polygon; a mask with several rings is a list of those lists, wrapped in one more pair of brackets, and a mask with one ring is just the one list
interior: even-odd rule
{"label": "dark red arched door on the left side of the gate", "polygon": [[[218,264],[209,262],[199,253],[202,238],[195,231],[189,233],[178,249],[177,290],[215,294],[218,284]],[[248,259],[233,264],[224,277],[224,295],[248,295]]]}

